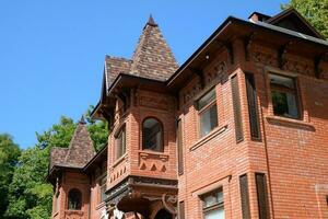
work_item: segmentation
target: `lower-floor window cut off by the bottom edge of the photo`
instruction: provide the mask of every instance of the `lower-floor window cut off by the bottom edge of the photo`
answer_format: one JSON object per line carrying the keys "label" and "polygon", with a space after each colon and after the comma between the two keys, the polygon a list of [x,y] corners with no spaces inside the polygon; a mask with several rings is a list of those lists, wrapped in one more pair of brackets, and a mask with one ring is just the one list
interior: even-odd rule
{"label": "lower-floor window cut off by the bottom edge of the photo", "polygon": [[202,211],[204,219],[224,219],[222,189],[202,196]]}

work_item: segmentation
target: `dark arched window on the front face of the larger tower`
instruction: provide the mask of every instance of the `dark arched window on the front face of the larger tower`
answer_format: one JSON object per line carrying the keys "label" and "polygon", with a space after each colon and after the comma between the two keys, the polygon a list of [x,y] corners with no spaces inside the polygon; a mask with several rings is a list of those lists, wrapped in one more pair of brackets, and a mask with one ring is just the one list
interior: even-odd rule
{"label": "dark arched window on the front face of the larger tower", "polygon": [[155,118],[142,123],[142,149],[163,151],[163,127]]}

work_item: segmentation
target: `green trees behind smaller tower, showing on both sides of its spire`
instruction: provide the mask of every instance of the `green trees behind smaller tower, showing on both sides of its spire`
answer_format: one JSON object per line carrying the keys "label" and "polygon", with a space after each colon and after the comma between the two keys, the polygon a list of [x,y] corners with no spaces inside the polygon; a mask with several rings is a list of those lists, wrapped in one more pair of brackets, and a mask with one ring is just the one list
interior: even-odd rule
{"label": "green trees behind smaller tower, showing on both sides of its spire", "polygon": [[[107,141],[107,125],[90,117],[92,106],[85,113],[87,129],[95,149]],[[52,147],[67,148],[77,123],[62,116],[43,134],[36,134],[37,143],[22,152],[9,186],[9,207],[5,219],[45,219],[51,214],[52,185],[46,182],[49,152]],[[1,217],[0,217],[1,218]]]}

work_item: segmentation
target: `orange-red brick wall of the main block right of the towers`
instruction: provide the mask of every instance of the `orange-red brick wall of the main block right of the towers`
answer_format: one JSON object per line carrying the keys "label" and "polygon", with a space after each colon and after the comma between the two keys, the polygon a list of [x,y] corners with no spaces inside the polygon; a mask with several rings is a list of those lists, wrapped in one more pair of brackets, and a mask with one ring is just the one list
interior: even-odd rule
{"label": "orange-red brick wall of the main block right of the towers", "polygon": [[[242,41],[234,41],[234,65],[222,51],[204,68],[204,78],[224,61],[226,69],[216,76],[216,104],[219,127],[208,137],[198,137],[198,112],[194,107],[204,89],[199,89],[195,76],[180,91],[179,118],[184,127],[185,173],[179,180],[179,200],[185,201],[186,218],[201,218],[200,195],[223,187],[226,218],[241,218],[239,175],[248,175],[250,214],[258,218],[255,173],[268,178],[269,209],[276,218],[324,218],[327,214],[325,186],[327,185],[328,142],[327,104],[328,85],[314,76],[313,61],[297,54],[288,56],[283,70],[278,68],[277,48],[258,44],[253,47],[251,59],[245,60]],[[262,57],[259,54],[262,55]],[[268,58],[271,57],[271,58]],[[306,67],[306,68],[305,68]],[[325,67],[325,65],[323,66]],[[255,74],[258,89],[261,140],[250,139],[248,105],[244,72]],[[300,120],[273,116],[268,73],[296,77],[302,101],[303,118]],[[325,70],[323,72],[326,72]],[[231,77],[237,74],[243,119],[244,140],[235,141]],[[194,92],[192,91],[197,91]],[[222,129],[226,125],[226,129]],[[215,132],[220,134],[215,134]],[[211,135],[215,137],[211,137]],[[229,177],[231,176],[231,178]],[[225,180],[229,178],[229,180]],[[320,194],[320,195],[319,195]],[[326,194],[327,195],[327,194]],[[325,207],[324,207],[325,206]]]}

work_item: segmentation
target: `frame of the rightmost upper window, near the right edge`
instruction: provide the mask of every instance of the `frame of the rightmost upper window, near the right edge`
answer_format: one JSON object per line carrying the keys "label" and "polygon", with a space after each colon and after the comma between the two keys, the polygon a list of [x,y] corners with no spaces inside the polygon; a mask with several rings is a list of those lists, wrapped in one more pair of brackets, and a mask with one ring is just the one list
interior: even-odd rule
{"label": "frame of the rightmost upper window, near the right edge", "polygon": [[[272,85],[271,84],[271,79],[270,79],[271,74],[291,79],[293,81],[294,89],[281,88],[279,85]],[[270,93],[270,101],[271,101],[271,105],[272,105],[273,116],[278,116],[278,117],[282,117],[282,118],[289,118],[289,119],[295,119],[295,120],[304,119],[303,105],[302,105],[302,99],[301,99],[301,90],[300,90],[300,82],[298,82],[298,77],[297,76],[290,76],[290,74],[285,74],[285,73],[279,73],[279,72],[276,72],[276,71],[268,71],[268,84],[269,84],[269,93]],[[279,114],[274,113],[273,96],[272,96],[273,91],[280,92],[280,93],[291,93],[295,96],[297,117],[288,116],[288,115],[279,115]]]}

